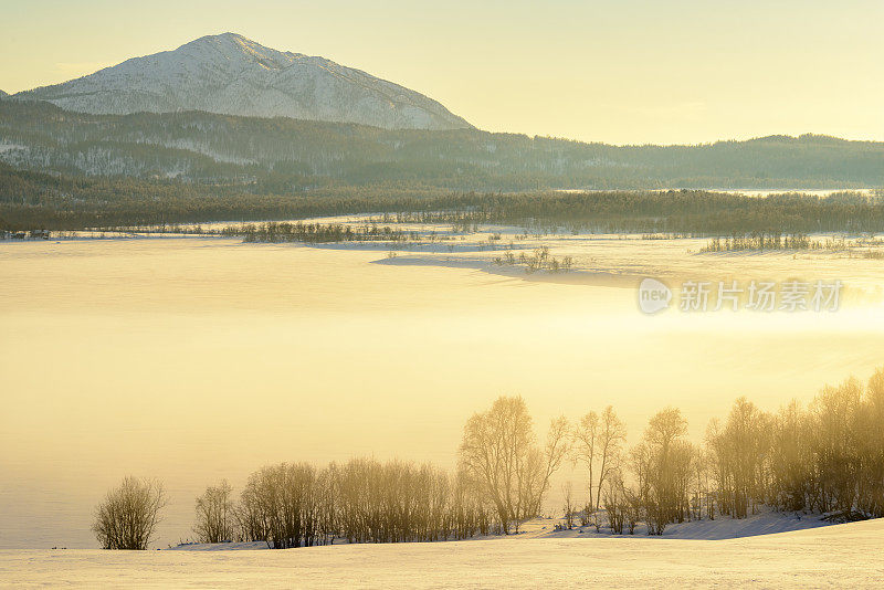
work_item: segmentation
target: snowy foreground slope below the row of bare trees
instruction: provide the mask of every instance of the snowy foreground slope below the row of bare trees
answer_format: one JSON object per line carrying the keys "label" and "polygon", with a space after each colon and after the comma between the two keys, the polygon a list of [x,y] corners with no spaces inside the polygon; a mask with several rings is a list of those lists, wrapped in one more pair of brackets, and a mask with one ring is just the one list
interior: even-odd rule
{"label": "snowy foreground slope below the row of bare trees", "polygon": [[884,584],[884,519],[729,540],[498,538],[282,551],[0,551],[17,588]]}

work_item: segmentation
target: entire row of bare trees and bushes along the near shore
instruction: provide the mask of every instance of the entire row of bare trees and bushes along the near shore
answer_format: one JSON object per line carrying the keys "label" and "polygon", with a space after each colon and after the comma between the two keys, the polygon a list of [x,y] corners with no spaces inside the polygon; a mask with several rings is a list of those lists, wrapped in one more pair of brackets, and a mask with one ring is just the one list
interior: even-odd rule
{"label": "entire row of bare trees and bushes along the near shore", "polygon": [[[466,422],[453,474],[367,459],[270,465],[239,498],[227,482],[208,487],[193,530],[202,542],[274,548],[518,533],[539,516],[567,460],[588,474],[582,509],[572,486],[562,488],[568,528],[580,518],[634,534],[643,523],[662,535],[672,523],[745,518],[761,505],[844,520],[884,516],[884,369],[865,387],[849,379],[824,388],[807,409],[792,402],[771,413],[740,398],[724,421],[709,423],[704,444],[687,440],[674,408],[652,417],[632,447],[625,440],[608,407],[575,424],[554,419],[541,443],[525,401],[501,397]],[[104,548],[145,549],[165,504],[158,482],[127,477],[98,506],[93,530]]]}

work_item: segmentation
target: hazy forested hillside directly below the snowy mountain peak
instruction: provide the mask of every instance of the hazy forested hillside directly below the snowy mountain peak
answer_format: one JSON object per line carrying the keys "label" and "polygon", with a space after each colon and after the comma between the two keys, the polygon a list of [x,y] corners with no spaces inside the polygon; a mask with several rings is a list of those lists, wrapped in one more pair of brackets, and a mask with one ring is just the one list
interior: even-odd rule
{"label": "hazy forested hillside directly below the snowy mountain peak", "polygon": [[262,194],[378,183],[483,191],[884,186],[883,143],[824,136],[619,147],[198,112],[88,115],[20,101],[0,102],[0,161],[70,176],[238,183]]}

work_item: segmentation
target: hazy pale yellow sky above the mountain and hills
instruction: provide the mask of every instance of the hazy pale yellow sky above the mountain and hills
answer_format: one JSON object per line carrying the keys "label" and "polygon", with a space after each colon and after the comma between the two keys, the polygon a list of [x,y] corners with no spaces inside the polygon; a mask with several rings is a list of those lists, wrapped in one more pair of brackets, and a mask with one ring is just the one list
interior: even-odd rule
{"label": "hazy pale yellow sky above the mountain and hills", "polygon": [[488,130],[884,140],[883,0],[0,0],[0,14],[10,93],[233,31],[394,81]]}

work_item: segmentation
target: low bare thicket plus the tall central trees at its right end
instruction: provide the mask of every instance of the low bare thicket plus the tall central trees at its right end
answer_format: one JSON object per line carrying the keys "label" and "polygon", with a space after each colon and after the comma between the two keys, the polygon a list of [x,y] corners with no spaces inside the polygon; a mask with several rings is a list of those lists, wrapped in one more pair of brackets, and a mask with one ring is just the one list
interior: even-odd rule
{"label": "low bare thicket plus the tall central trees at its right end", "polygon": [[540,513],[568,451],[554,420],[538,444],[522,398],[499,398],[464,428],[460,468],[355,459],[317,470],[282,463],[253,473],[233,502],[222,482],[197,499],[202,542],[266,541],[273,548],[464,539],[511,533]]}

